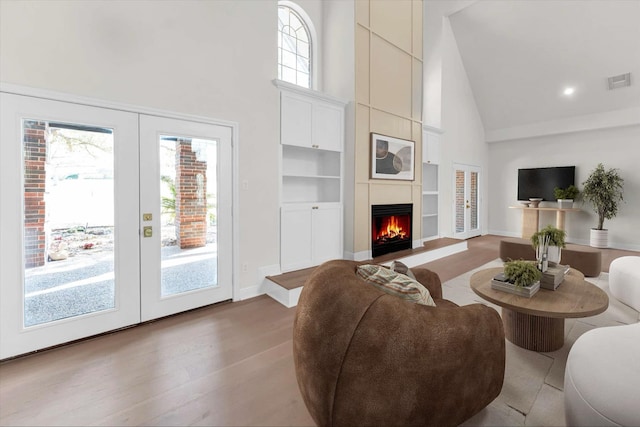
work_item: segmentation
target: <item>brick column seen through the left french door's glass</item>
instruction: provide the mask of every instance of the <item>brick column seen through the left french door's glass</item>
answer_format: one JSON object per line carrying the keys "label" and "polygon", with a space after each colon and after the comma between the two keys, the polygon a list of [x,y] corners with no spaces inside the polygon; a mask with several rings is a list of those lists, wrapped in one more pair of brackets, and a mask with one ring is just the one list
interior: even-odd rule
{"label": "brick column seen through the left french door's glass", "polygon": [[44,265],[46,235],[44,231],[46,184],[46,123],[24,122],[24,246],[25,268]]}

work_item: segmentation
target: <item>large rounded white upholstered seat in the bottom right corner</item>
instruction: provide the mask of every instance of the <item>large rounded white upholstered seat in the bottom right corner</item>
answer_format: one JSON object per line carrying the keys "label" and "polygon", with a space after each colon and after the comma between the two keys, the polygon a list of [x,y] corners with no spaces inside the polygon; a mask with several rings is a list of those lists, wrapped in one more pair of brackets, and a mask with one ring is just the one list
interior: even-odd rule
{"label": "large rounded white upholstered seat in the bottom right corner", "polygon": [[640,423],[640,323],[592,329],[571,347],[564,376],[568,426]]}

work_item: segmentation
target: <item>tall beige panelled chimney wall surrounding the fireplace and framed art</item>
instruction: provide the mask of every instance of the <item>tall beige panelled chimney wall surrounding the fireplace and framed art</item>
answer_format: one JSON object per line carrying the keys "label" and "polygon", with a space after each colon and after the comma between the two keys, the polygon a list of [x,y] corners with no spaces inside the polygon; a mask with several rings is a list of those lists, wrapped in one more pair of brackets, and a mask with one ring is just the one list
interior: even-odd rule
{"label": "tall beige panelled chimney wall surrounding the fireplace and framed art", "polygon": [[[371,205],[413,203],[414,242],[422,235],[422,7],[422,0],[355,2],[357,258],[371,250]],[[414,181],[370,178],[371,132],[415,141]]]}

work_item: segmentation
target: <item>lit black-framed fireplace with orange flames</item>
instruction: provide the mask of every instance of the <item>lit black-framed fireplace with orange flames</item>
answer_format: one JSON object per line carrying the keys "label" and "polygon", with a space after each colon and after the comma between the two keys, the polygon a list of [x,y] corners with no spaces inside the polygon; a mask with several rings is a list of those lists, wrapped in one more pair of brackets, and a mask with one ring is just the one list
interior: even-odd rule
{"label": "lit black-framed fireplace with orange flames", "polygon": [[371,206],[371,256],[411,249],[412,204]]}

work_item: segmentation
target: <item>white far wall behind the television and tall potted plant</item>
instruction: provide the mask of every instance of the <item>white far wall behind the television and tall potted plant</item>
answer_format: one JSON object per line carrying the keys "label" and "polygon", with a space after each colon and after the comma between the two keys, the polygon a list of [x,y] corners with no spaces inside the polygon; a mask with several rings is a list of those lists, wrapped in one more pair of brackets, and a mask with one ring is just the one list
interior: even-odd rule
{"label": "white far wall behind the television and tall potted plant", "polygon": [[[582,183],[598,163],[617,168],[624,182],[624,202],[618,216],[605,220],[609,245],[640,250],[640,126],[608,128],[554,136],[511,140],[489,144],[489,232],[520,236],[522,211],[517,205],[518,169],[548,166],[576,166],[576,184]],[[566,215],[567,239],[589,244],[589,230],[597,225],[591,205],[578,203],[581,212]],[[541,225],[555,224],[553,213],[543,213]]]}

